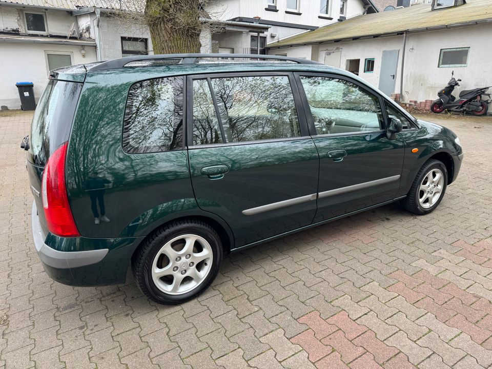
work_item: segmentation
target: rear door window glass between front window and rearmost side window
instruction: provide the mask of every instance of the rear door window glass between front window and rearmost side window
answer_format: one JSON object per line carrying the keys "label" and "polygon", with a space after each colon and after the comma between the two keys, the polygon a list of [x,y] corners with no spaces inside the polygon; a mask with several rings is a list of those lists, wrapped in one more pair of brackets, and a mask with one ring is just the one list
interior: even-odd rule
{"label": "rear door window glass between front window and rearmost side window", "polygon": [[[289,77],[257,76],[212,78],[219,121],[214,119],[211,96],[206,88],[194,87],[193,101],[207,101],[208,120],[216,142],[223,132],[225,142],[298,137],[301,135]],[[205,83],[202,85],[205,87]],[[203,109],[201,109],[203,110]],[[195,106],[194,106],[195,112]],[[202,116],[194,123],[194,137],[201,134]],[[222,127],[218,124],[221,123]],[[217,138],[217,139],[216,139]],[[195,141],[197,142],[197,141]]]}

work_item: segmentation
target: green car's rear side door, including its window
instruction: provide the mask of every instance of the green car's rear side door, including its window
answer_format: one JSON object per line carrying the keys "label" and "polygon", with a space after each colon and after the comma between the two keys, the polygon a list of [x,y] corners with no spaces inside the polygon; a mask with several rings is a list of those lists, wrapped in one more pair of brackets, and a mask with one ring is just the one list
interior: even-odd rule
{"label": "green car's rear side door, including its window", "polygon": [[227,220],[236,247],[311,224],[319,158],[293,75],[193,76],[188,93],[195,197]]}

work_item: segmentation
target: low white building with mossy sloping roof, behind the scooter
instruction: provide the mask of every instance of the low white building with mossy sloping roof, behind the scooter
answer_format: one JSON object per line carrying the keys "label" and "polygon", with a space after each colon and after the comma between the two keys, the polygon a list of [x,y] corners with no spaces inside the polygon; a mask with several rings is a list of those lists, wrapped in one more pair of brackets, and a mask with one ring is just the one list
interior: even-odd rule
{"label": "low white building with mossy sloping roof, behind the scooter", "polygon": [[321,61],[387,95],[421,102],[436,99],[453,70],[463,90],[492,86],[492,50],[485,46],[490,34],[490,0],[435,0],[357,16],[267,47],[269,54]]}

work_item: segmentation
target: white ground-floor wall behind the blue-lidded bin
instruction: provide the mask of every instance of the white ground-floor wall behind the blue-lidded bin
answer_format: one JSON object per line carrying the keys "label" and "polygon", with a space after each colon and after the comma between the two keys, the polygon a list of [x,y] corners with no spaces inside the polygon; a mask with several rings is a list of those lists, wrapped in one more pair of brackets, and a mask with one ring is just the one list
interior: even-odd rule
{"label": "white ground-floor wall behind the blue-lidded bin", "polygon": [[48,83],[46,52],[63,52],[72,55],[72,64],[96,61],[95,47],[85,47],[86,57],[80,54],[80,46],[1,43],[0,57],[0,105],[9,109],[20,109],[16,82],[29,81],[34,84],[37,101]]}

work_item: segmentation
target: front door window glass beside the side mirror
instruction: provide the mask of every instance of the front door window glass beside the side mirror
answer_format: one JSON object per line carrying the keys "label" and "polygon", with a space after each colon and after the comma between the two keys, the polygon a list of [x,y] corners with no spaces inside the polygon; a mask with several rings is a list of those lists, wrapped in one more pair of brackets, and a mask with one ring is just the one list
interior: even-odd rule
{"label": "front door window glass beside the side mirror", "polygon": [[379,99],[350,81],[301,76],[317,134],[378,131]]}

